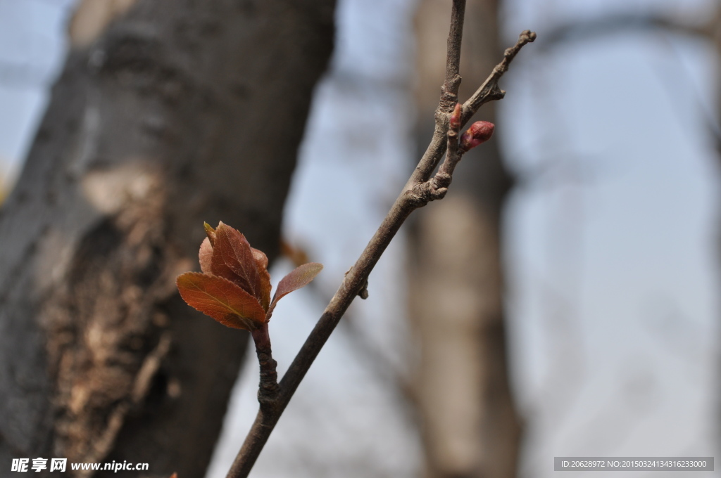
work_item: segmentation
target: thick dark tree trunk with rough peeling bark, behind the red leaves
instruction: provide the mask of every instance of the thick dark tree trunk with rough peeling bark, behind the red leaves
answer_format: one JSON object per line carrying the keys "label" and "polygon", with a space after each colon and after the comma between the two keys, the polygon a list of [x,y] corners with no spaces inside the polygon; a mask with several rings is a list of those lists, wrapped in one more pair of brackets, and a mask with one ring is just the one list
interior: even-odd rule
{"label": "thick dark tree trunk with rough peeling bark, behind the red leaves", "polygon": [[247,333],[174,278],[204,220],[277,254],[334,4],[81,3],[0,213],[0,476],[40,456],[203,477]]}

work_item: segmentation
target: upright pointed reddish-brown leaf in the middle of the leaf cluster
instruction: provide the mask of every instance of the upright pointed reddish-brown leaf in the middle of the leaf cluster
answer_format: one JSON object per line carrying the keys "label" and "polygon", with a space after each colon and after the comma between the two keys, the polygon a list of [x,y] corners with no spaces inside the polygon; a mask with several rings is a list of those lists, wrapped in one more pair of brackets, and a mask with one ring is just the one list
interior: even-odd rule
{"label": "upright pointed reddish-brown leaf in the middle of the leaf cluster", "polygon": [[211,270],[261,300],[257,263],[244,235],[223,222],[216,228]]}

